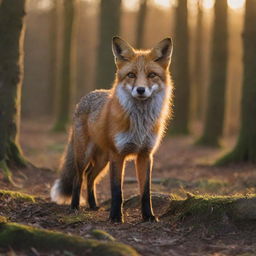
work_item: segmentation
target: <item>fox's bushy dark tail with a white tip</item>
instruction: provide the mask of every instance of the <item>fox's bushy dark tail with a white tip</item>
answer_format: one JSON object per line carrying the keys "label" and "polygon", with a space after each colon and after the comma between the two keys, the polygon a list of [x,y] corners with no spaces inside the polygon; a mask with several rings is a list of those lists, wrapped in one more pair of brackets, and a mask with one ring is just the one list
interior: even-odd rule
{"label": "fox's bushy dark tail with a white tip", "polygon": [[69,137],[68,146],[61,161],[61,175],[55,180],[51,189],[51,200],[58,204],[70,203],[73,179],[75,177],[75,162],[73,151],[73,133]]}

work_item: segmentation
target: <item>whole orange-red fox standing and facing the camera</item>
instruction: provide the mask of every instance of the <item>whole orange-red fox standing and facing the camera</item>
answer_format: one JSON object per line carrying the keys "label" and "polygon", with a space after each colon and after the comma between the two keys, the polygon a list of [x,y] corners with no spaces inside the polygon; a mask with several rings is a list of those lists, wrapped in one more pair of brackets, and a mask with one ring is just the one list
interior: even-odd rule
{"label": "whole orange-red fox standing and facing the camera", "polygon": [[116,66],[109,90],[94,90],[76,105],[60,177],[51,188],[51,200],[79,209],[83,182],[87,204],[97,210],[96,183],[110,172],[109,219],[123,222],[125,162],[135,161],[143,221],[157,222],[151,202],[153,156],[171,116],[172,80],[169,66],[172,39],[154,48],[133,48],[122,38],[112,39]]}

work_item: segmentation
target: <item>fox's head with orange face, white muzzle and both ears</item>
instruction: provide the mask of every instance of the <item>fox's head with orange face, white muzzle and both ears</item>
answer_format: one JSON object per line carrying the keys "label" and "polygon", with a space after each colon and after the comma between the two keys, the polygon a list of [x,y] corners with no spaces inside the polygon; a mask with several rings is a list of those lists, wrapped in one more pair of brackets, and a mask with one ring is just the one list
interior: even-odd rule
{"label": "fox's head with orange face, white muzzle and both ears", "polygon": [[163,92],[170,83],[169,65],[172,40],[166,38],[151,50],[136,50],[114,37],[112,50],[117,67],[117,90],[137,100],[146,100]]}

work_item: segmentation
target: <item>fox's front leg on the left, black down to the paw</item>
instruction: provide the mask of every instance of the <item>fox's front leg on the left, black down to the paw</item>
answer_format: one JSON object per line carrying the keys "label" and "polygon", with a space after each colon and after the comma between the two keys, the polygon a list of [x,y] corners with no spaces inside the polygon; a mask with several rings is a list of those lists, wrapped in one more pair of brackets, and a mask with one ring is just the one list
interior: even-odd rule
{"label": "fox's front leg on the left, black down to the paw", "polygon": [[114,157],[110,161],[111,210],[110,220],[123,222],[123,169],[124,158]]}

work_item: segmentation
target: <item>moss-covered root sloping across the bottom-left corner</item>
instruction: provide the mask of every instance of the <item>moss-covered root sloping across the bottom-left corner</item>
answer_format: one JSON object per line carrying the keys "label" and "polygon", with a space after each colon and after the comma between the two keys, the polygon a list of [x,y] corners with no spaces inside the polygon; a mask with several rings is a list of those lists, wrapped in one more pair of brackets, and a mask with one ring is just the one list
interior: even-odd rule
{"label": "moss-covered root sloping across the bottom-left corner", "polygon": [[34,247],[39,251],[71,251],[77,255],[136,256],[129,246],[117,242],[84,240],[79,236],[47,231],[17,223],[0,223],[0,247],[25,250]]}

